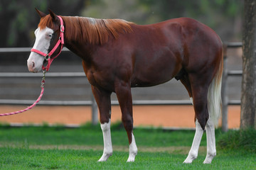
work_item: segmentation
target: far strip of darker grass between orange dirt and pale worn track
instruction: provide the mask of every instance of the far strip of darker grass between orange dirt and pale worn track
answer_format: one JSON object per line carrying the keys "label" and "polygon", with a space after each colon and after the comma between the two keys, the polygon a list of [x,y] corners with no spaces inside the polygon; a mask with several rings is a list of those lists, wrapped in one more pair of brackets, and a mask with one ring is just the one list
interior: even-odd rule
{"label": "far strip of darker grass between orange dirt and pale worn track", "polygon": [[[193,130],[169,131],[159,129],[137,128],[134,130],[138,146],[169,147],[191,146]],[[128,145],[127,133],[119,124],[111,128],[113,145]],[[30,145],[103,145],[100,125],[83,125],[81,128],[64,128],[63,126],[43,127],[25,126],[11,128],[0,126],[0,142]],[[203,135],[201,145],[206,146],[206,135]]]}

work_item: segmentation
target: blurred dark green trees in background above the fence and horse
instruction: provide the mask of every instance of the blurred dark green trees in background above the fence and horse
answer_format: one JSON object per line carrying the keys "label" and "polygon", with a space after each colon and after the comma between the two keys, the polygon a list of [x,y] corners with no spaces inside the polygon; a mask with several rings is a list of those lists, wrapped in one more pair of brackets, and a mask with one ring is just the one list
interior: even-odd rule
{"label": "blurred dark green trees in background above the fence and horse", "polygon": [[[59,15],[80,16],[82,11],[83,16],[122,18],[138,24],[186,16],[206,23],[225,39],[234,36],[233,29],[239,31],[233,25],[240,21],[241,6],[241,0],[5,0],[0,1],[0,46],[28,47],[33,44],[33,31],[39,21],[35,7],[45,13],[51,8]],[[222,33],[223,30],[227,33]]]}

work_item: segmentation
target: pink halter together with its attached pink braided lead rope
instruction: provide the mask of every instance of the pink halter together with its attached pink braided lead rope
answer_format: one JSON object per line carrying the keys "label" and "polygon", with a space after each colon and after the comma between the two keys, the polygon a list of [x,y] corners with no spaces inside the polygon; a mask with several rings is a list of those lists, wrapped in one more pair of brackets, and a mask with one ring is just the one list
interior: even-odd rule
{"label": "pink halter together with its attached pink braided lead rope", "polygon": [[[55,46],[53,47],[53,50],[50,50],[50,52],[48,54],[44,53],[44,52],[41,52],[39,50],[36,50],[34,48],[31,49],[31,52],[36,52],[38,53],[39,55],[43,55],[43,57],[45,57],[46,61],[48,62],[47,66],[44,67],[42,66],[42,69],[43,69],[43,79],[41,81],[41,94],[40,96],[38,97],[38,99],[35,101],[35,103],[33,103],[31,106],[28,106],[28,108],[25,108],[24,110],[22,111],[16,111],[16,112],[11,112],[11,113],[3,113],[3,114],[0,114],[0,116],[5,116],[5,115],[16,115],[18,113],[23,113],[25,111],[28,111],[30,110],[31,108],[35,107],[36,104],[41,100],[42,96],[43,96],[43,91],[44,91],[44,84],[45,84],[45,81],[46,81],[46,72],[48,72],[48,70],[50,69],[50,64],[53,62],[53,60],[58,57],[58,55],[60,55],[60,52],[61,50],[63,49],[63,45],[64,45],[64,24],[63,24],[63,19],[58,16],[58,18],[60,19],[60,37],[59,37],[59,40],[58,42],[55,44]],[[58,55],[56,55],[55,57],[50,57],[51,55],[53,55],[53,53],[55,52],[55,50],[57,50],[58,46],[60,45],[60,52],[58,52]]]}

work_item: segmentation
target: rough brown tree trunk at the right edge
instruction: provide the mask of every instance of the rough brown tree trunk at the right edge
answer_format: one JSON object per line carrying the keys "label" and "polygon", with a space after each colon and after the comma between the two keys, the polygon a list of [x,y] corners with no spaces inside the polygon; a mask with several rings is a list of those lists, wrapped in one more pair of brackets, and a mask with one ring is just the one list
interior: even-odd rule
{"label": "rough brown tree trunk at the right edge", "polygon": [[240,128],[256,128],[256,1],[245,0]]}

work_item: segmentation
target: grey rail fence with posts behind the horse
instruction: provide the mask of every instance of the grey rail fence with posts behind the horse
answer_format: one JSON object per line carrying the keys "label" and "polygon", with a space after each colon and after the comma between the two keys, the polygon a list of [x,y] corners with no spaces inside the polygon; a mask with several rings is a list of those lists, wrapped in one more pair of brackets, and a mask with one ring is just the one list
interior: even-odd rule
{"label": "grey rail fence with posts behind the horse", "polygon": [[[241,42],[226,42],[223,45],[223,60],[224,60],[224,69],[223,69],[223,84],[222,84],[222,101],[223,101],[223,115],[222,115],[222,130],[228,130],[228,105],[240,105],[240,100],[237,101],[230,101],[228,100],[227,95],[227,80],[230,76],[241,76],[242,70],[239,71],[230,71],[227,69],[227,50],[228,48],[238,48],[242,47]],[[12,48],[0,48],[0,53],[17,53],[17,52],[30,52],[31,47],[12,47]],[[67,48],[63,48],[63,51],[68,51]],[[25,72],[1,72],[0,77],[42,77],[41,73],[38,74],[30,74]],[[49,72],[47,73],[47,77],[85,77],[83,72]],[[0,104],[11,104],[11,105],[28,105],[33,103],[30,100],[10,100],[10,99],[3,99],[0,98]],[[97,103],[95,99],[92,97],[90,101],[41,101],[38,103],[40,105],[60,105],[60,106],[85,106],[90,105],[92,106],[92,124],[97,124]],[[117,105],[118,101],[112,101],[113,105]],[[182,100],[182,101],[175,101],[175,100],[139,100],[133,101],[134,105],[191,105],[191,101],[189,100]]]}

